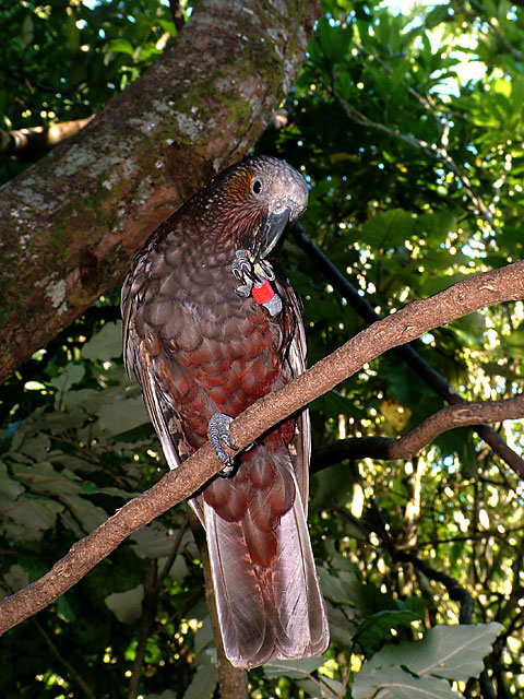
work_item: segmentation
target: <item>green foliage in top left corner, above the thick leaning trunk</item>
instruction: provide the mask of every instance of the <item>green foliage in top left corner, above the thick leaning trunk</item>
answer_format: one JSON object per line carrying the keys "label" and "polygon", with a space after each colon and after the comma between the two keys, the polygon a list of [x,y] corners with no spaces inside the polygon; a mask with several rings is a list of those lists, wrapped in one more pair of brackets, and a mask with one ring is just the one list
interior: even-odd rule
{"label": "green foliage in top left corner, above the thick leaning trunk", "polygon": [[[0,128],[46,127],[99,111],[176,34],[157,0],[59,2],[7,0],[1,20]],[[2,123],[3,122],[3,123]],[[27,163],[10,159],[1,180]]]}

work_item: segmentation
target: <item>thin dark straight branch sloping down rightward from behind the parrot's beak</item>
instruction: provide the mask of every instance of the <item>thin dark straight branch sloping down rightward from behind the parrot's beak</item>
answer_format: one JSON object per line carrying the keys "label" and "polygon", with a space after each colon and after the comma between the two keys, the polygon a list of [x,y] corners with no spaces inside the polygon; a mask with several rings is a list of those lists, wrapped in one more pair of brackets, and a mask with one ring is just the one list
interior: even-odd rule
{"label": "thin dark straight branch sloping down rightward from behind the parrot's beak", "polygon": [[[307,236],[305,229],[295,224],[293,228],[298,245],[314,261],[315,265],[325,274],[330,283],[336,288],[347,300],[357,313],[369,323],[380,320],[380,316],[373,310],[372,306],[358,294],[355,287],[342,274],[342,272],[333,264],[333,262],[320,250],[314,242]],[[413,346],[406,344],[395,348],[395,352],[407,363],[409,368],[414,370],[436,393],[444,399],[451,405],[466,405],[467,402],[451,387],[445,379],[440,376],[427,362],[425,362],[414,350]],[[491,447],[496,454],[513,469],[515,473],[524,473],[524,461],[516,454],[499,434],[488,425],[474,426],[477,435]],[[370,438],[371,439],[371,438]],[[378,439],[378,438],[374,438]],[[369,454],[368,454],[369,455]],[[379,457],[381,458],[381,457]]]}

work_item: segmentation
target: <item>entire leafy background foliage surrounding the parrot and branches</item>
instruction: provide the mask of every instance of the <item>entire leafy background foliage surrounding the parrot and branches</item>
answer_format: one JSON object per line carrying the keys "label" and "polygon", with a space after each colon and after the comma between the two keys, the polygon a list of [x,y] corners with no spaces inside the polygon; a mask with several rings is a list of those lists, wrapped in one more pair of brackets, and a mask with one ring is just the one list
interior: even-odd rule
{"label": "entire leafy background foliage surrounding the parrot and branches", "polygon": [[[162,33],[174,32],[153,0],[126,9],[112,0],[11,2],[2,12],[17,27],[0,69],[8,128],[97,111],[154,60]],[[282,106],[286,126],[269,128],[258,150],[303,169],[306,229],[381,315],[522,258],[522,46],[524,11],[505,0],[405,14],[325,1]],[[3,179],[24,166],[9,161]],[[305,299],[312,363],[362,321],[293,239],[284,265]],[[5,591],[50,568],[164,470],[123,372],[117,304],[117,292],[100,299],[0,389]],[[523,332],[523,305],[507,304],[433,331],[416,350],[463,398],[492,400],[522,386]],[[384,355],[315,401],[313,445],[396,436],[441,405],[412,367]],[[522,455],[522,423],[499,431]],[[311,491],[332,645],[320,661],[257,668],[252,697],[417,697],[420,685],[429,696],[458,688],[480,697],[487,682],[498,697],[519,696],[522,485],[474,430],[446,433],[408,462],[346,461],[315,474]],[[183,508],[5,636],[0,694],[80,697],[80,676],[93,696],[124,696],[151,561],[158,594],[141,694],[211,696],[213,641]],[[464,603],[439,573],[469,593],[474,626],[458,626]],[[436,637],[450,657],[456,650],[455,665]],[[468,650],[460,655],[462,640]],[[439,670],[422,672],[429,666]],[[394,682],[403,688],[392,690]]]}

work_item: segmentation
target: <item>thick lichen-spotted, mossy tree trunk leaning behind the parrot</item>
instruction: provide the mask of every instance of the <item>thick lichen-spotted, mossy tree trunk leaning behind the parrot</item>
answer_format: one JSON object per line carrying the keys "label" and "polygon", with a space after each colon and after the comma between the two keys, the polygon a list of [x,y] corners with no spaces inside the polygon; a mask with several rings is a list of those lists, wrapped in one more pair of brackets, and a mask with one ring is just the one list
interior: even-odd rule
{"label": "thick lichen-spotted, mossy tree trunk leaning behind the parrot", "polygon": [[202,0],[154,66],[0,190],[0,380],[253,145],[297,76],[319,4]]}

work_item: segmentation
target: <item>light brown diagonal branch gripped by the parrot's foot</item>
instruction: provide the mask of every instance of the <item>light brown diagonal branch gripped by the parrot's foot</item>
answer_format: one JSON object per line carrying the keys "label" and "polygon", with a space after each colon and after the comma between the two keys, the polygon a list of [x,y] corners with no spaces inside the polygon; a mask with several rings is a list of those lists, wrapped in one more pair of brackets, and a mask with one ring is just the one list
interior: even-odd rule
{"label": "light brown diagonal branch gripped by the parrot's foot", "polygon": [[[273,425],[333,389],[367,362],[392,347],[485,306],[524,298],[524,261],[471,276],[366,328],[291,383],[248,407],[231,423],[231,436],[246,448]],[[20,624],[72,588],[129,534],[191,496],[222,469],[206,442],[152,488],[127,502],[88,536],[74,544],[51,570],[0,603],[0,633]]]}

